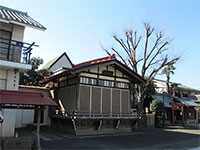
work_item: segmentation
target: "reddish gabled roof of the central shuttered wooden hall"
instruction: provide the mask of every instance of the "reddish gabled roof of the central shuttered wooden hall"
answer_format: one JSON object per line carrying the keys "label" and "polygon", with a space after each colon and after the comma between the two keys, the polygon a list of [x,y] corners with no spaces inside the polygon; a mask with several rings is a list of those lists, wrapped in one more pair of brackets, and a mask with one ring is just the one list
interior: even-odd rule
{"label": "reddish gabled roof of the central shuttered wooden hall", "polygon": [[94,59],[94,60],[90,60],[90,61],[86,61],[86,62],[83,62],[83,63],[80,63],[80,64],[77,64],[77,65],[73,65],[72,66],[72,69],[63,69],[63,70],[60,70],[48,77],[45,77],[43,81],[41,81],[41,83],[46,83],[52,79],[55,79],[57,78],[58,76],[64,74],[64,73],[67,73],[69,71],[73,72],[73,71],[76,71],[76,70],[79,70],[79,69],[83,69],[85,67],[89,67],[89,66],[92,66],[92,65],[98,65],[98,64],[101,64],[101,63],[106,63],[106,62],[111,62],[111,61],[115,61],[119,64],[121,64],[124,68],[126,68],[127,70],[129,70],[132,74],[134,74],[138,80],[143,81],[143,82],[146,82],[144,78],[142,78],[139,74],[137,74],[136,72],[134,72],[133,70],[131,70],[129,67],[127,67],[126,65],[124,65],[123,63],[121,63],[120,61],[118,61],[115,57],[114,54],[112,55],[109,55],[107,57],[103,57],[103,58],[98,58],[98,59]]}

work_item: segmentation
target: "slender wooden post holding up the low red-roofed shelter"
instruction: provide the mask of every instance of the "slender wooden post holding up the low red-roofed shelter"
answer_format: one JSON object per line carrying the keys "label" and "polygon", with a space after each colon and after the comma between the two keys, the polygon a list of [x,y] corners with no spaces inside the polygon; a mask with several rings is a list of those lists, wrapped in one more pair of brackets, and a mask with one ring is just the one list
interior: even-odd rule
{"label": "slender wooden post holding up the low red-roofed shelter", "polygon": [[41,117],[41,108],[38,106],[37,108],[38,115],[37,115],[37,131],[36,131],[36,136],[37,136],[37,142],[36,142],[36,149],[40,150],[40,117]]}

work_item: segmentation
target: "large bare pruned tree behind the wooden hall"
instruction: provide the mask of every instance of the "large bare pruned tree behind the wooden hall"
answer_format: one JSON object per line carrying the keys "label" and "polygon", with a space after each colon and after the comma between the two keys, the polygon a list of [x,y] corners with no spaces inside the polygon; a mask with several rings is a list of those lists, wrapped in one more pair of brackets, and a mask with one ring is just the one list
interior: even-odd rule
{"label": "large bare pruned tree behind the wooden hall", "polygon": [[[143,111],[143,99],[148,85],[168,64],[175,64],[180,57],[169,58],[167,51],[169,41],[164,39],[163,33],[156,32],[149,24],[144,23],[145,37],[138,36],[137,31],[128,30],[125,32],[125,38],[114,35],[113,38],[120,45],[120,49],[112,47],[111,50],[103,48],[108,55],[116,54],[121,61],[131,67],[135,72],[146,79],[146,85],[135,85],[138,97],[138,111]],[[138,53],[142,52],[139,57]],[[141,72],[140,72],[141,71]]]}

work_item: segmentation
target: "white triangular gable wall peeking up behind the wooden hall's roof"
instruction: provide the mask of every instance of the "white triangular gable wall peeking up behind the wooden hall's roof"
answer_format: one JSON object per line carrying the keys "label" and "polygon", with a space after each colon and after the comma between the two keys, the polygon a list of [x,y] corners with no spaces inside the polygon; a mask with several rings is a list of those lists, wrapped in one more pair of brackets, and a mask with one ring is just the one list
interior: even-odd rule
{"label": "white triangular gable wall peeking up behind the wooden hall's roof", "polygon": [[72,68],[72,65],[64,55],[50,68],[50,71],[54,72],[62,67]]}

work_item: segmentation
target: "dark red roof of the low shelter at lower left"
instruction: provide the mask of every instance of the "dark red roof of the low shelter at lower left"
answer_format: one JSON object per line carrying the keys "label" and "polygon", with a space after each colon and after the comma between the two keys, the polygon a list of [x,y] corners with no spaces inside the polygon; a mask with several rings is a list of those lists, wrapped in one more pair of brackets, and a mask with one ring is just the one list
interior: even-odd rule
{"label": "dark red roof of the low shelter at lower left", "polygon": [[0,90],[0,104],[56,106],[51,99],[42,93]]}

